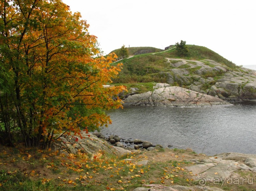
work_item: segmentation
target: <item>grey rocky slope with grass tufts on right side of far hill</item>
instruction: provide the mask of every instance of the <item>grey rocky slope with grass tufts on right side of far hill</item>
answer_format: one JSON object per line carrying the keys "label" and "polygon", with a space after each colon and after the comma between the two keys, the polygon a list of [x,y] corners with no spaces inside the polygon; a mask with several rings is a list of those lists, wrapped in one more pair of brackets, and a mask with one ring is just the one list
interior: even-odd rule
{"label": "grey rocky slope with grass tufts on right side of far hill", "polygon": [[[200,61],[166,58],[174,69],[165,72],[170,84],[186,85],[188,89],[226,100],[256,99],[256,71],[246,68],[231,69],[213,60]],[[158,75],[163,75],[159,73]],[[214,77],[214,78],[213,78]]]}

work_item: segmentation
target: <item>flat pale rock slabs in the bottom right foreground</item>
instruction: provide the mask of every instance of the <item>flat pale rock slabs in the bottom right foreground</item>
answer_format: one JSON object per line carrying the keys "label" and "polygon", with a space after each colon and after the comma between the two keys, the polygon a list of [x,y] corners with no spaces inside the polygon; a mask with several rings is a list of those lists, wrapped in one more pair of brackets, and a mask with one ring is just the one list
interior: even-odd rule
{"label": "flat pale rock slabs in the bottom right foreground", "polygon": [[231,184],[253,185],[256,173],[255,154],[222,153],[206,159],[194,158],[190,162],[193,165],[185,168],[191,174],[191,178],[197,181],[197,186],[144,184],[142,185],[143,187],[135,188],[133,191],[224,191],[221,188],[209,187],[207,185],[210,183],[223,188],[224,185]]}

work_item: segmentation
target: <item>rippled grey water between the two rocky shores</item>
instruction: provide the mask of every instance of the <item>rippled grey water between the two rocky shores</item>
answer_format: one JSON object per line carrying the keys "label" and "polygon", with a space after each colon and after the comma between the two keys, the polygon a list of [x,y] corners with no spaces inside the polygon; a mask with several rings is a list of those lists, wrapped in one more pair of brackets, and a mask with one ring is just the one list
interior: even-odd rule
{"label": "rippled grey water between the two rocky shores", "polygon": [[[112,124],[102,134],[148,140],[163,146],[256,154],[255,102],[224,107],[126,107],[108,113]],[[173,147],[173,148],[174,148]]]}

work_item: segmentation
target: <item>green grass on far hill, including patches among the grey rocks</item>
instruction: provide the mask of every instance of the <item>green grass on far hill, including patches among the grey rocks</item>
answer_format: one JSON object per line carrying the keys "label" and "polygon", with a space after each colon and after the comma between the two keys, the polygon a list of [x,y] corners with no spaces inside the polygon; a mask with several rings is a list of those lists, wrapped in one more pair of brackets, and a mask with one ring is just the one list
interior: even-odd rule
{"label": "green grass on far hill, including patches among the grey rocks", "polygon": [[[179,76],[173,75],[170,71],[175,67],[171,66],[169,62],[167,62],[166,58],[177,58],[178,60],[170,60],[171,63],[177,63],[181,60],[179,59],[189,59],[189,60],[203,60],[203,59],[211,59],[216,62],[224,64],[223,67],[227,68],[228,70],[233,70],[239,68],[234,63],[226,60],[225,58],[221,57],[219,54],[207,49],[203,46],[195,46],[195,45],[187,45],[189,49],[189,55],[185,57],[181,57],[177,55],[175,49],[168,50],[165,52],[159,52],[157,54],[146,53],[135,55],[129,59],[123,59],[119,62],[113,63],[112,65],[116,65],[117,63],[123,63],[123,69],[118,75],[118,78],[113,79],[113,83],[121,83],[121,84],[134,84],[134,83],[148,83],[148,82],[155,82],[155,83],[167,83],[170,77],[174,79],[174,82],[177,82],[180,86],[184,85],[179,80]],[[131,53],[135,53],[136,51],[140,50],[150,50],[150,51],[158,51],[154,48],[150,47],[132,47],[130,48]],[[196,62],[188,61],[189,64],[183,64],[179,69],[186,69],[189,72],[190,76],[198,75],[194,72],[201,68],[201,66],[196,66],[191,68],[193,65],[197,65]],[[203,61],[204,64],[215,67],[214,64]],[[192,65],[193,64],[193,65]],[[214,72],[205,72],[202,74],[202,78],[207,77],[216,77],[222,76],[224,73],[214,71]],[[185,84],[187,85],[187,84]]]}

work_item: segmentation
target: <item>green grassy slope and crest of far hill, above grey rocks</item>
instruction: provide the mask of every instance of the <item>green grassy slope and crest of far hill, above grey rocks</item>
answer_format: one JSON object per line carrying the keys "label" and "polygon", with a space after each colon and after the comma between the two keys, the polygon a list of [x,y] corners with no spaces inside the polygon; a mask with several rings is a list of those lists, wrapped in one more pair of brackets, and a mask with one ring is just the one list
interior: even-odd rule
{"label": "green grassy slope and crest of far hill, above grey rocks", "polygon": [[[129,59],[123,59],[119,62],[123,63],[123,69],[119,74],[119,78],[115,79],[114,83],[138,83],[138,82],[161,82],[166,83],[165,76],[159,76],[159,73],[169,72],[175,67],[171,66],[166,58],[182,58],[187,60],[202,60],[210,59],[223,64],[228,70],[238,68],[234,63],[228,61],[224,57],[214,51],[196,45],[187,45],[189,55],[180,57],[175,48],[169,51],[157,52],[156,54],[147,53],[135,55]],[[144,47],[130,48],[132,53],[142,50]],[[153,49],[150,49],[153,50]],[[112,51],[114,52],[114,51]],[[118,63],[118,62],[117,62]],[[114,64],[117,64],[114,63]],[[156,75],[158,74],[158,75]]]}

